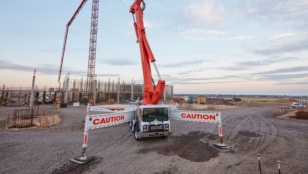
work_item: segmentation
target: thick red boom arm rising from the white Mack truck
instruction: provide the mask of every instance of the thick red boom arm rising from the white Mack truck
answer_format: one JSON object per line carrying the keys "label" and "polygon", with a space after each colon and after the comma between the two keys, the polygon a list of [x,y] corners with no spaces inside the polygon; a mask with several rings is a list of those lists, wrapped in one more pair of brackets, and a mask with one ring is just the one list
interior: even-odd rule
{"label": "thick red boom arm rising from the white Mack truck", "polygon": [[[143,4],[142,8],[140,7],[141,2]],[[157,104],[161,96],[164,93],[165,81],[161,80],[160,78],[160,74],[155,64],[154,55],[151,51],[150,45],[145,36],[145,28],[144,28],[143,19],[142,19],[144,8],[145,8],[145,4],[143,0],[135,0],[129,12],[132,13],[133,15],[134,27],[135,27],[136,36],[137,36],[137,43],[139,43],[139,47],[140,47],[142,71],[143,71],[143,78],[144,78],[143,101],[144,101],[144,104]],[[136,16],[136,22],[135,22],[134,14]],[[152,79],[150,61],[154,64],[155,70],[159,77],[159,80],[157,82],[155,89],[153,88],[153,85],[152,85],[153,79]]]}

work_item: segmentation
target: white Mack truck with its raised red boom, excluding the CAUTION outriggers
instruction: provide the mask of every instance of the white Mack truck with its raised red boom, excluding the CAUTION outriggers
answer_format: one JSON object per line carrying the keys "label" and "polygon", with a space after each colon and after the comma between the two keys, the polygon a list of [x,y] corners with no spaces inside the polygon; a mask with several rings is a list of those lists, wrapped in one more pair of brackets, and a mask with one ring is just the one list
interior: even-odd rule
{"label": "white Mack truck with its raised red boom, excluding the CAUTION outriggers", "polygon": [[[166,139],[168,138],[168,135],[171,135],[169,122],[171,108],[163,104],[157,104],[164,93],[165,81],[160,77],[155,64],[156,60],[145,35],[143,23],[144,9],[144,1],[135,0],[129,10],[129,12],[132,13],[137,43],[139,43],[140,47],[144,78],[143,99],[140,103],[135,103],[137,106],[136,118],[129,122],[132,133],[137,141],[140,141],[143,137],[154,136],[161,136],[163,139]],[[136,16],[136,20],[134,14]],[[155,85],[152,78],[150,63],[153,63],[159,78],[157,85]]]}

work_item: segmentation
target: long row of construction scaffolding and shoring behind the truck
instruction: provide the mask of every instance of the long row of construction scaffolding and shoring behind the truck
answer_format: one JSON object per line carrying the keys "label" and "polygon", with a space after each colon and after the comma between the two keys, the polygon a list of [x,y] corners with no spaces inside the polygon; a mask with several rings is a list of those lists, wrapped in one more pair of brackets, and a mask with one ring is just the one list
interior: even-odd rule
{"label": "long row of construction scaffolding and shoring behind the truck", "polygon": [[[133,80],[132,80],[133,82]],[[120,83],[114,80],[101,81],[94,80],[93,91],[87,91],[87,80],[68,79],[68,83],[63,82],[63,87],[34,87],[34,105],[52,104],[57,101],[65,103],[88,103],[89,98],[94,98],[95,103],[108,102],[108,99],[115,99],[116,103],[127,103],[133,96],[133,100],[142,99],[144,95],[144,85],[126,83],[124,80]],[[67,84],[67,87],[66,87]],[[66,89],[68,92],[66,92]],[[133,89],[133,90],[132,90]],[[173,100],[174,86],[166,85],[162,101]],[[95,95],[94,95],[95,94]],[[133,95],[132,95],[133,94]],[[0,88],[0,105],[9,103],[30,103],[31,87],[5,87]],[[67,95],[67,99],[65,98]]]}

